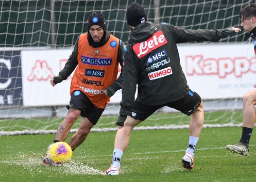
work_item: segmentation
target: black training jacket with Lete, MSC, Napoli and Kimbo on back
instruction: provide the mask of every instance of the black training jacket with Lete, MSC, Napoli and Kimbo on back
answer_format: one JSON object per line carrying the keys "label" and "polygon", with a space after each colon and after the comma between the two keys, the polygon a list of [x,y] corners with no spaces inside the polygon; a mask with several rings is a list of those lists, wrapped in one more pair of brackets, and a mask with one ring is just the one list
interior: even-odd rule
{"label": "black training jacket with Lete, MSC, Napoli and Kimbo on back", "polygon": [[232,28],[189,30],[151,22],[136,26],[129,34],[124,52],[122,101],[116,124],[123,126],[126,116],[131,115],[136,84],[137,99],[149,106],[174,102],[187,94],[189,86],[180,65],[176,44],[215,42],[233,32]]}

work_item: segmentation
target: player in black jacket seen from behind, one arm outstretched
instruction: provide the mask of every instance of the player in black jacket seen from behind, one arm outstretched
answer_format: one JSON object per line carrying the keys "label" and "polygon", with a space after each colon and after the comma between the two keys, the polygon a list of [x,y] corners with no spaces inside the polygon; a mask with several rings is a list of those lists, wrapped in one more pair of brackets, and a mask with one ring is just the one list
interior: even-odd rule
{"label": "player in black jacket seen from behind, one arm outstretched", "polygon": [[126,16],[131,32],[124,53],[121,110],[116,122],[120,129],[115,136],[112,165],[105,174],[118,175],[132,129],[164,106],[191,115],[189,146],[182,158],[183,167],[191,170],[203,126],[203,103],[187,85],[176,44],[214,42],[241,29],[188,30],[166,23],[155,25],[147,22],[144,8],[136,3],[130,5]]}

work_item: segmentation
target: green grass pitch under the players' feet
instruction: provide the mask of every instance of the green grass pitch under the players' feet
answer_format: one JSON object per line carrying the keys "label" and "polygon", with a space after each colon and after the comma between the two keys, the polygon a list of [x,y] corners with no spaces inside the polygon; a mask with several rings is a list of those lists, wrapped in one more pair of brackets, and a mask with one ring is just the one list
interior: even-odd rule
{"label": "green grass pitch under the players' feet", "polygon": [[91,132],[73,152],[71,163],[61,167],[41,164],[55,135],[0,136],[0,181],[253,181],[254,135],[249,156],[228,152],[225,147],[237,143],[241,131],[231,127],[203,128],[191,171],[181,166],[188,129],[133,131],[118,176],[97,172],[103,172],[111,163],[116,132]]}

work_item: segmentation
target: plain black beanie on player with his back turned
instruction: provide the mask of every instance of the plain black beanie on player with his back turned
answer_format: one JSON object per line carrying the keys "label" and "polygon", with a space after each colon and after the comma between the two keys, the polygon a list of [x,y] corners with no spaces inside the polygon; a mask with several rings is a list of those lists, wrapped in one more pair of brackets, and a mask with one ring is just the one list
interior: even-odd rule
{"label": "plain black beanie on player with his back turned", "polygon": [[144,8],[137,4],[132,3],[126,11],[127,23],[130,26],[135,27],[138,24],[147,22],[147,15]]}

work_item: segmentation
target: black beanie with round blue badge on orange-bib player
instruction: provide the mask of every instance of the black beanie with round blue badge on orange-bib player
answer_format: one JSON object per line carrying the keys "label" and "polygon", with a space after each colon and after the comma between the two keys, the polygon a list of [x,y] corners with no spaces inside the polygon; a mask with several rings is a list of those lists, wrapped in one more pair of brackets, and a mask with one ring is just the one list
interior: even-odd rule
{"label": "black beanie with round blue badge on orange-bib player", "polygon": [[106,19],[104,14],[101,13],[91,13],[87,19],[87,24],[88,24],[88,31],[91,26],[93,25],[99,25],[101,28],[103,28],[104,32],[107,31],[107,26],[106,26]]}

